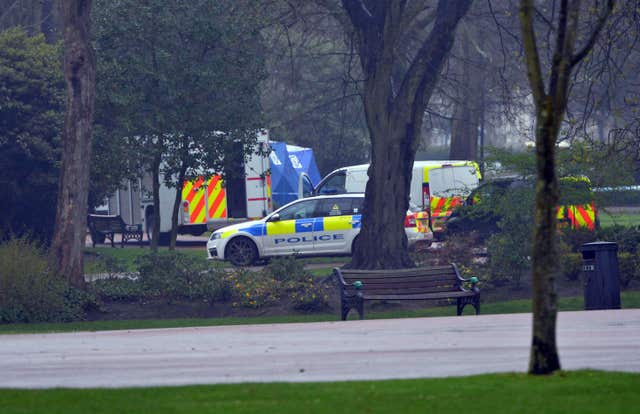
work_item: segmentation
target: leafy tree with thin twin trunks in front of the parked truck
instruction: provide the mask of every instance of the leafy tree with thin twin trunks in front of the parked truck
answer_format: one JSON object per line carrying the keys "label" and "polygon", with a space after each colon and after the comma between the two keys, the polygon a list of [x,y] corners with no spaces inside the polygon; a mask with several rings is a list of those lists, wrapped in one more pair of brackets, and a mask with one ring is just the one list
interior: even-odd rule
{"label": "leafy tree with thin twin trunks in front of the parked truck", "polygon": [[134,148],[151,174],[152,248],[160,180],[176,188],[175,245],[184,179],[221,172],[225,155],[255,142],[265,73],[260,15],[250,1],[105,0],[95,18],[100,108],[108,111],[101,119],[113,121],[111,139]]}

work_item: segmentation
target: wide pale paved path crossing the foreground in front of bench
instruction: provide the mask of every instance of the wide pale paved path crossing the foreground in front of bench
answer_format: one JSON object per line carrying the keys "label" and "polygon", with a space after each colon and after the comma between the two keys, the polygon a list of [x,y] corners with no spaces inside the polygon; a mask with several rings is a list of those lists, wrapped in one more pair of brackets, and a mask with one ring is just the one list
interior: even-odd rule
{"label": "wide pale paved path crossing the foreground in front of bench", "polygon": [[[525,371],[531,314],[0,335],[0,387],[123,387]],[[640,309],[566,312],[564,369],[640,372]]]}

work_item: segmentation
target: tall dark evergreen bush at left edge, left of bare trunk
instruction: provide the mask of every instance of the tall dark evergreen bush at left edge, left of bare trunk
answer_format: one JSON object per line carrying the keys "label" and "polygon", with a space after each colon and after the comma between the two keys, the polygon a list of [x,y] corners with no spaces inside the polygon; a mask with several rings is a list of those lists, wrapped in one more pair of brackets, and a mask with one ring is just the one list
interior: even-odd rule
{"label": "tall dark evergreen bush at left edge, left of bare trunk", "polygon": [[64,79],[60,49],[0,32],[0,232],[49,240],[57,197]]}

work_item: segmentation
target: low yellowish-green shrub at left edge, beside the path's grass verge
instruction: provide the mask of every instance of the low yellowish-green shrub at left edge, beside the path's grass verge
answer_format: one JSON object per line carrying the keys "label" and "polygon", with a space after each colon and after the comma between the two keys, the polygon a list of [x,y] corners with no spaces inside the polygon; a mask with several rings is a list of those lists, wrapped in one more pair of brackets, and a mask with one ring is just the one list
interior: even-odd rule
{"label": "low yellowish-green shrub at left edge, beside the path's grass verge", "polygon": [[25,238],[0,244],[0,323],[82,319],[92,297],[51,273],[46,252]]}

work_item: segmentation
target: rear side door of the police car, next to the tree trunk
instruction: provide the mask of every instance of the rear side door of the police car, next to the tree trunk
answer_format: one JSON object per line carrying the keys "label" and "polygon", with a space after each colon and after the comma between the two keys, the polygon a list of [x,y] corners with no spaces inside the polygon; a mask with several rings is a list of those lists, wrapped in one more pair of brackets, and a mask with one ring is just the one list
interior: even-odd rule
{"label": "rear side door of the police car, next to the tree trunk", "polygon": [[315,253],[350,253],[360,232],[362,198],[334,197],[320,201],[315,222]]}

